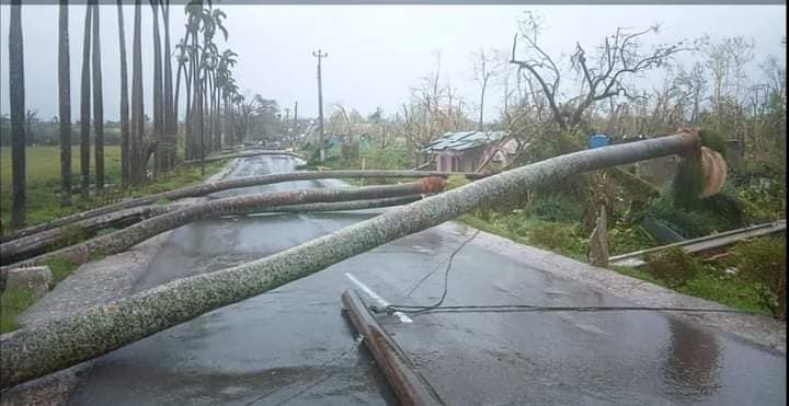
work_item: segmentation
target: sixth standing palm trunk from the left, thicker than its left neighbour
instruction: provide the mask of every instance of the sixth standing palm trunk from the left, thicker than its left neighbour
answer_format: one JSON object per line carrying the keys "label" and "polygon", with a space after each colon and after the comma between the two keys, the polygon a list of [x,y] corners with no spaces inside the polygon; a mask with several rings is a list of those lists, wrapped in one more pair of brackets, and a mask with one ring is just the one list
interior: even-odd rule
{"label": "sixth standing palm trunk from the left, thicker than its left neighbour", "polygon": [[141,162],[142,153],[142,135],[145,134],[145,106],[142,105],[142,47],[140,30],[140,0],[135,1],[135,22],[134,22],[134,45],[132,48],[132,184],[139,185],[145,174],[144,162]]}

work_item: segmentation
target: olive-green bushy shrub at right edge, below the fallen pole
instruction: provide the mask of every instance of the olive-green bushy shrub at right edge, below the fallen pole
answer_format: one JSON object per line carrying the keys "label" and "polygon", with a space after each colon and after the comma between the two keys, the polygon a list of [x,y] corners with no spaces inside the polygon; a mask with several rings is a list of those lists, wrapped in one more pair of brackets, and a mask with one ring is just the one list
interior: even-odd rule
{"label": "olive-green bushy shrub at right edge, below the fallen pole", "polygon": [[731,265],[737,268],[741,278],[758,285],[765,308],[786,315],[786,235],[737,244]]}

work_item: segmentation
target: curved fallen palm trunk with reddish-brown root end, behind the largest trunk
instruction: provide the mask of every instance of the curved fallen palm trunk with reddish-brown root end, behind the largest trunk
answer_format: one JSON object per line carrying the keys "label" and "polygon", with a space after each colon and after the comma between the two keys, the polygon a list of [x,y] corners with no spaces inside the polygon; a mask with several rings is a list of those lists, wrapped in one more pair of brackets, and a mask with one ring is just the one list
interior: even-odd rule
{"label": "curved fallen palm trunk with reddish-brown root end, behind the largest trunk", "polygon": [[[427,177],[420,182],[400,185],[339,187],[295,192],[270,192],[255,195],[227,197],[198,202],[182,209],[157,216],[132,227],[102,235],[83,243],[60,248],[25,260],[25,264],[45,264],[52,259],[65,259],[72,264],[84,264],[99,255],[112,255],[126,251],[153,235],[161,234],[191,222],[237,216],[267,210],[271,207],[335,202],[359,199],[379,199],[414,194],[442,192],[445,182],[439,177]],[[8,269],[9,267],[5,267]]]}

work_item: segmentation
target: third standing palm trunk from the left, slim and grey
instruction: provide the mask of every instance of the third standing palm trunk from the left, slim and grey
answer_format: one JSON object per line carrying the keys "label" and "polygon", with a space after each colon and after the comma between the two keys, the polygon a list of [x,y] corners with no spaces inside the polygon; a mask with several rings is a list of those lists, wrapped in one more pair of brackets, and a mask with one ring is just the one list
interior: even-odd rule
{"label": "third standing palm trunk from the left, slim and grey", "polygon": [[85,4],[85,24],[82,38],[82,78],[80,88],[80,193],[88,197],[90,188],[90,35],[91,8]]}

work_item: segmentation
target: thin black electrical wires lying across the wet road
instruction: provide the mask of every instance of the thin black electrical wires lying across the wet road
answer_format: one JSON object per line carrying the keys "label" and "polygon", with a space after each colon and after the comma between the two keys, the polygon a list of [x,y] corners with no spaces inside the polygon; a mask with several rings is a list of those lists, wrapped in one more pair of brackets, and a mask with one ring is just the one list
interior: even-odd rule
{"label": "thin black electrical wires lying across the wet road", "polygon": [[[534,304],[491,304],[491,305],[451,305],[444,306],[444,300],[449,291],[449,272],[451,271],[453,260],[455,256],[468,244],[479,235],[480,230],[473,233],[469,239],[464,241],[450,255],[447,266],[444,270],[444,291],[442,292],[441,299],[434,304],[430,305],[410,305],[410,304],[389,304],[382,309],[382,311],[376,306],[370,306],[370,310],[375,313],[408,313],[420,315],[424,313],[526,313],[526,312],[681,312],[681,313],[729,313],[729,314],[745,314],[745,315],[759,315],[768,316],[773,318],[781,318],[778,315],[755,312],[747,310],[735,310],[735,309],[702,309],[702,308],[673,308],[673,306],[542,306]],[[416,285],[409,291],[409,295],[424,282],[431,275],[433,275],[438,268],[434,268],[427,275],[425,275]]]}

